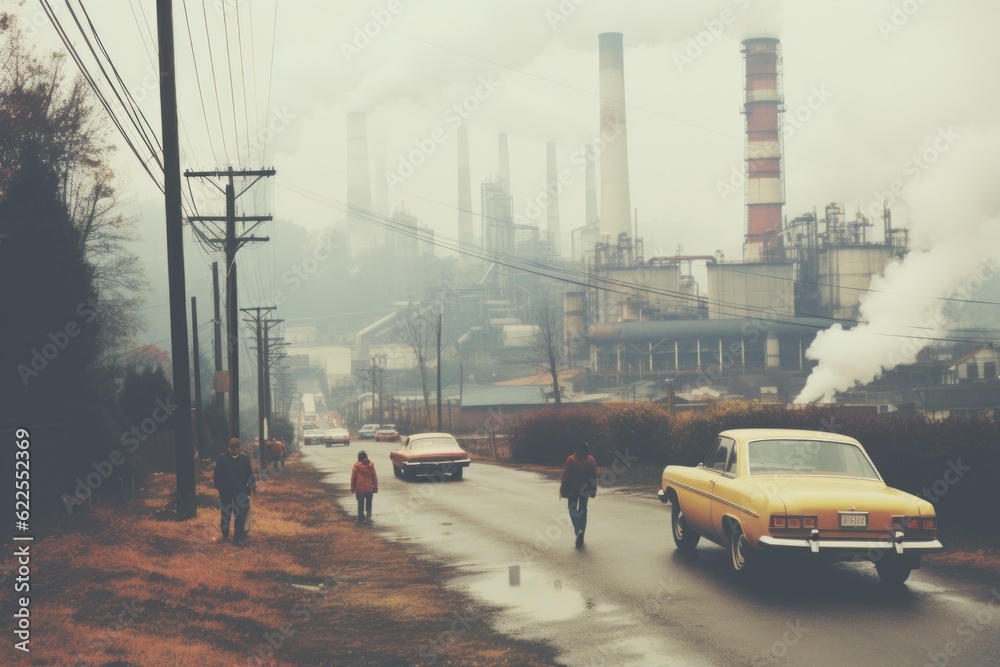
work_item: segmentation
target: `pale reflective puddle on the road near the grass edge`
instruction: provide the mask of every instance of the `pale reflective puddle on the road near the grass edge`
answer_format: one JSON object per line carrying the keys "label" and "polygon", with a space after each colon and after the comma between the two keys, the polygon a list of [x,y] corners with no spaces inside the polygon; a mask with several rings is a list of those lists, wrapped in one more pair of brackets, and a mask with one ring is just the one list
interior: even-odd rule
{"label": "pale reflective puddle on the road near the grass edge", "polygon": [[477,577],[463,587],[486,602],[529,616],[523,619],[529,623],[567,621],[587,609],[583,595],[565,581],[528,568]]}

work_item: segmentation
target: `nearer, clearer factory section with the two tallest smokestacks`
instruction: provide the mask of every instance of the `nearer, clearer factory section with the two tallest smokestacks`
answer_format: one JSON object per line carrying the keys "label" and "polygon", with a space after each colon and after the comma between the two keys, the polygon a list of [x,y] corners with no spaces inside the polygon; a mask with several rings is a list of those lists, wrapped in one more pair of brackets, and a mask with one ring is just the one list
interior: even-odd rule
{"label": "nearer, clearer factory section with the two tallest smokestacks", "polygon": [[[583,303],[580,292],[565,297],[567,355],[585,358],[594,376],[611,384],[673,379],[735,387],[752,398],[761,387],[768,393],[777,387],[790,398],[811,368],[804,352],[816,333],[835,322],[853,325],[871,277],[905,254],[905,231],[892,228],[887,207],[880,240],[871,238],[873,221],[860,211],[849,217],[843,204],[787,221],[781,44],[758,37],[742,45],[743,258],[645,258],[628,218],[621,35],[601,35],[599,47],[599,122],[618,139],[601,154],[599,241],[589,254],[574,254],[594,287]],[[587,223],[574,242],[592,229],[593,221]],[[695,261],[706,264],[704,293],[683,270]]]}

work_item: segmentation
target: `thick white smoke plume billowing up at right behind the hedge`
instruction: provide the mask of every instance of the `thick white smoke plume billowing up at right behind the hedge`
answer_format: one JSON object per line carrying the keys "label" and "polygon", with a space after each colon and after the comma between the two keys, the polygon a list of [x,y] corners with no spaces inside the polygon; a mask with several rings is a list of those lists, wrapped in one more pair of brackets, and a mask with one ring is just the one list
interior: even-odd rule
{"label": "thick white smoke plume billowing up at right behind the hedge", "polygon": [[819,364],[796,403],[832,401],[916,361],[933,339],[961,335],[952,328],[962,300],[977,299],[1000,274],[1000,195],[988,167],[1000,149],[998,129],[959,129],[954,147],[908,186],[913,250],[873,278],[861,324],[817,335],[806,357]]}

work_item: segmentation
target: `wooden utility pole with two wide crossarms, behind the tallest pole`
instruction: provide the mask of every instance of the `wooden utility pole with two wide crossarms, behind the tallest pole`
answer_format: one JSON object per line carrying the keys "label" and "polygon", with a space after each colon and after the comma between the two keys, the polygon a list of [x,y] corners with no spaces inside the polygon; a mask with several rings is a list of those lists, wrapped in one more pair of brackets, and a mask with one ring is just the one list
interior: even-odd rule
{"label": "wooden utility pole with two wide crossarms, behind the tallest pole", "polygon": [[[187,178],[228,178],[229,182],[225,189],[219,188],[226,195],[226,215],[200,215],[191,216],[188,220],[192,223],[194,230],[202,243],[215,249],[221,249],[226,256],[226,339],[229,353],[229,433],[230,437],[240,437],[240,348],[239,348],[239,299],[236,294],[236,252],[247,243],[254,241],[269,241],[266,236],[253,236],[253,230],[261,223],[269,222],[273,218],[270,215],[244,215],[236,217],[236,200],[252,188],[260,179],[267,176],[274,176],[274,169],[259,170],[239,170],[234,171],[232,167],[224,171],[186,171]],[[255,177],[247,187],[236,194],[233,179],[236,177]],[[215,183],[213,183],[215,185]],[[216,185],[215,187],[219,187]],[[210,229],[214,236],[209,236],[204,230],[194,223],[211,225]],[[244,230],[237,235],[236,223],[244,225]],[[218,227],[219,223],[225,223],[225,229]],[[254,223],[249,229],[246,223]]]}

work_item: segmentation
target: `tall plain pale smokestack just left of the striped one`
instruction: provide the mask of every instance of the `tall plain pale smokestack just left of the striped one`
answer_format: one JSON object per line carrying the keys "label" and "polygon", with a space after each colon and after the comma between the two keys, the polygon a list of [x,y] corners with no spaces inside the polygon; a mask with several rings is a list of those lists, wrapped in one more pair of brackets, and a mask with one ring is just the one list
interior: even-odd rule
{"label": "tall plain pale smokestack just left of the striped one", "polygon": [[628,189],[628,136],[625,130],[625,56],[620,32],[597,36],[601,86],[601,236],[617,243],[632,235]]}

